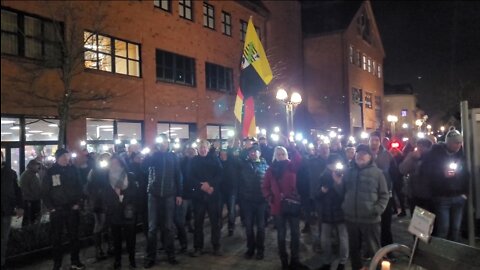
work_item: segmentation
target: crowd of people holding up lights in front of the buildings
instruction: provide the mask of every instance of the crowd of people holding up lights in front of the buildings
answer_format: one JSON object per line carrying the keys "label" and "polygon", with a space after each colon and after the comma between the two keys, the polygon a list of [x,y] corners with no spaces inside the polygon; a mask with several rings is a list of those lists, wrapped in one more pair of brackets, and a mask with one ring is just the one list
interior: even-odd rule
{"label": "crowd of people holding up lights in front of the buildings", "polygon": [[[147,243],[144,268],[155,265],[159,243],[171,265],[179,263],[177,252],[189,248],[192,257],[202,256],[206,215],[214,256],[223,253],[225,220],[228,236],[242,224],[245,259],[264,259],[265,229],[273,222],[282,269],[308,269],[300,258],[300,234],[312,233],[314,225],[314,248],[323,257],[319,269],[330,269],[335,260],[337,269],[344,269],[349,259],[352,269],[367,269],[366,258],[393,243],[392,216],[405,216],[407,208],[412,213],[415,206],[436,214],[435,235],[459,241],[468,194],[462,135],[451,130],[445,142],[419,139],[403,149],[393,145],[373,132],[365,144],[346,147],[337,139],[319,140],[314,147],[288,138],[274,147],[266,138],[232,140],[225,148],[202,140],[178,153],[162,135],[148,155],[117,151],[94,156],[84,151],[72,160],[66,149],[58,149],[52,166],[32,160],[19,180],[2,152],[2,268],[11,217],[24,215],[23,225],[28,226],[39,221],[42,207],[49,214],[55,270],[62,265],[65,229],[71,269],[84,268],[80,211],[94,216],[96,258],[113,256],[114,269],[121,268],[122,242],[129,266],[136,268],[140,223]],[[193,243],[188,243],[188,231]]]}

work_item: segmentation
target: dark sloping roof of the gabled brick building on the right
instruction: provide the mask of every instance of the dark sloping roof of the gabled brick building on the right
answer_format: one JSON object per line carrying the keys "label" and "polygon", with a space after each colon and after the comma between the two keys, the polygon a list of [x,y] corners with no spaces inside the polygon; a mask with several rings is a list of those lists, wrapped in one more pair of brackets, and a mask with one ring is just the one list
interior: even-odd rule
{"label": "dark sloping roof of the gabled brick building on the right", "polygon": [[302,1],[302,29],[306,35],[343,31],[348,28],[362,1]]}

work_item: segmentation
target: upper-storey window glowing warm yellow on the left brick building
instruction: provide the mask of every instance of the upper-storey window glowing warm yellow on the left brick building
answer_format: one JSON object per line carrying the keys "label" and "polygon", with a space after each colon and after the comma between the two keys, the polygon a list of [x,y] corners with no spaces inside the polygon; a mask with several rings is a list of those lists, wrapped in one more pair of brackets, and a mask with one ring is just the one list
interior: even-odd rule
{"label": "upper-storey window glowing warm yellow on the left brick building", "polygon": [[140,45],[84,31],[85,67],[140,77]]}

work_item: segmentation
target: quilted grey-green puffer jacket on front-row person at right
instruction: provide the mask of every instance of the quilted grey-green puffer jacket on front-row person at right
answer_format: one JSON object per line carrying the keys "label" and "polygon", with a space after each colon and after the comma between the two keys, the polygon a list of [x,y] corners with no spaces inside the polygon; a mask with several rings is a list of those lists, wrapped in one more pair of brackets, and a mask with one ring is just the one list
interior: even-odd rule
{"label": "quilted grey-green puffer jacket on front-row person at right", "polygon": [[345,220],[355,223],[378,223],[389,200],[383,172],[372,163],[365,168],[351,168],[337,189],[344,192],[342,209]]}

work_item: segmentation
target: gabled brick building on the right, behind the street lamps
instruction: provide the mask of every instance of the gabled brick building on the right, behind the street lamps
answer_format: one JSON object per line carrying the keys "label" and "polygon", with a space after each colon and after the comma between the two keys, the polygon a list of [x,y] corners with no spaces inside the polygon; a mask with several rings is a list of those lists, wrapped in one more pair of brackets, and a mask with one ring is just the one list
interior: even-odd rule
{"label": "gabled brick building on the right, behind the street lamps", "polygon": [[382,125],[385,52],[369,1],[303,6],[304,85],[315,126],[351,134]]}

